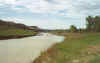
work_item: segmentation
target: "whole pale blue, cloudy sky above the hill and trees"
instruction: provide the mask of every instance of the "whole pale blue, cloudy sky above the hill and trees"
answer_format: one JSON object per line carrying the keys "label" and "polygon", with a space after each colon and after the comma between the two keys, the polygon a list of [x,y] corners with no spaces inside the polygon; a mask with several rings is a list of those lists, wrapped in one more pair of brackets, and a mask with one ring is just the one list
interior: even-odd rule
{"label": "whole pale blue, cloudy sky above the hill and trees", "polygon": [[85,28],[89,15],[100,15],[100,0],[0,0],[0,19],[44,29]]}

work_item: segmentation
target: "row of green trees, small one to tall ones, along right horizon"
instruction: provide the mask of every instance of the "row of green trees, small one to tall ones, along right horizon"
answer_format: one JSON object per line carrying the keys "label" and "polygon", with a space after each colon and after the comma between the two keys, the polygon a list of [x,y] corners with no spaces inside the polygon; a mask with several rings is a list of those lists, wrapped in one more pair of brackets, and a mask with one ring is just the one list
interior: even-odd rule
{"label": "row of green trees, small one to tall ones, along right horizon", "polygon": [[86,29],[77,29],[76,26],[70,26],[70,32],[100,32],[100,16],[87,16]]}

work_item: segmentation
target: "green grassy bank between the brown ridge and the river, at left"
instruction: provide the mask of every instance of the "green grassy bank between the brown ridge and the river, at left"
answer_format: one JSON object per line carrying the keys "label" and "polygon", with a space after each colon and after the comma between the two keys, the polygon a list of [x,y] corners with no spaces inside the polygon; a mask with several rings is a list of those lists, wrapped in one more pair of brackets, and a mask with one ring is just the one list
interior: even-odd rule
{"label": "green grassy bank between the brown ridge and the river, at left", "polygon": [[34,36],[37,32],[23,29],[0,30],[0,40]]}

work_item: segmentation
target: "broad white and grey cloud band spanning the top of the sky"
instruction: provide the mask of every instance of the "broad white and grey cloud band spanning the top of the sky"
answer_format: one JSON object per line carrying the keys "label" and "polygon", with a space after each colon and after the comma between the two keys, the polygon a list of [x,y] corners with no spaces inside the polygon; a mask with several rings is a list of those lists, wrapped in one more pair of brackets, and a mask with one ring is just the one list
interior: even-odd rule
{"label": "broad white and grey cloud band spanning the top of the sky", "polygon": [[[32,13],[56,13],[66,9],[66,15],[86,15],[91,10],[94,14],[100,10],[100,0],[0,0],[1,4],[8,4],[14,10],[24,9]],[[19,8],[21,6],[23,8]]]}

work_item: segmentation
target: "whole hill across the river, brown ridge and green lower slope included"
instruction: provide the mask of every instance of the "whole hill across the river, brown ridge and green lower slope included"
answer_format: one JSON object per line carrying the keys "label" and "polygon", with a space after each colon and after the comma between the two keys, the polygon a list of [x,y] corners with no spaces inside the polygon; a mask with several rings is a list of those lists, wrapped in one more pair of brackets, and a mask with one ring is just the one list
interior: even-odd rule
{"label": "whole hill across the river, brown ridge and green lower slope included", "polygon": [[0,40],[34,36],[38,33],[37,26],[0,20]]}

